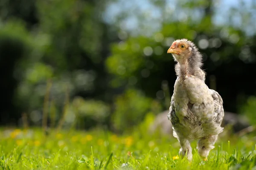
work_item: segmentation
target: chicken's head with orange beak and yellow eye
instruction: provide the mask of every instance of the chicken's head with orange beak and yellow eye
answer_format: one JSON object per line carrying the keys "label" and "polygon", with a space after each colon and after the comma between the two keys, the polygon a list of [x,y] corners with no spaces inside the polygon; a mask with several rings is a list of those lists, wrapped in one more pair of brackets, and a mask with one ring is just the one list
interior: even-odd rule
{"label": "chicken's head with orange beak and yellow eye", "polygon": [[192,51],[194,48],[194,43],[189,40],[175,40],[172,43],[172,46],[168,49],[167,53],[172,53],[173,57],[177,62],[183,63],[184,61],[187,61],[192,55]]}

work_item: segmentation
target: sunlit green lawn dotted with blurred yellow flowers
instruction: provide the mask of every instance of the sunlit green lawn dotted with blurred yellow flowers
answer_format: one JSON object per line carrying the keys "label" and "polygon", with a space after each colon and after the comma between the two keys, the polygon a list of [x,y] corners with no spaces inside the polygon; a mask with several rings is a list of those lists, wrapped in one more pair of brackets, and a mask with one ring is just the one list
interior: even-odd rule
{"label": "sunlit green lawn dotted with blurred yellow flowers", "polygon": [[[148,134],[145,126],[116,135],[101,129],[62,130],[44,135],[41,129],[0,130],[0,169],[209,169],[256,170],[256,143],[250,136],[222,135],[202,160],[196,149],[192,163],[177,156],[172,136]],[[196,141],[192,143],[196,147]]]}

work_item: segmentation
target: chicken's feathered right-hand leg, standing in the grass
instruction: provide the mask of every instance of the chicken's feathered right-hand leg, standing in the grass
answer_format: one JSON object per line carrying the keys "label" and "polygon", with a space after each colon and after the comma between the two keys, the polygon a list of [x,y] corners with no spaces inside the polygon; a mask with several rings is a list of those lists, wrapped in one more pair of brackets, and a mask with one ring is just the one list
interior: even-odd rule
{"label": "chicken's feathered right-hand leg, standing in the grass", "polygon": [[204,136],[198,141],[198,154],[204,158],[207,159],[210,150],[214,148],[214,144],[217,140],[218,135],[209,135]]}

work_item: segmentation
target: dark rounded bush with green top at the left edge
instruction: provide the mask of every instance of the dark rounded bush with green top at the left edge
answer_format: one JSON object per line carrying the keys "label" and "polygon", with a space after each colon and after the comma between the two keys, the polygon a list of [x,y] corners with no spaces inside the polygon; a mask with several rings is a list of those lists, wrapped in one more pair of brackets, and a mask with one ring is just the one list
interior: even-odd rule
{"label": "dark rounded bush with green top at the left edge", "polygon": [[17,61],[27,58],[26,55],[32,44],[32,37],[26,31],[23,22],[10,20],[0,26],[0,89],[2,91],[0,124],[17,122],[17,118],[20,117],[21,112],[13,107],[15,105],[13,96],[19,81],[19,73],[14,70],[16,70]]}

